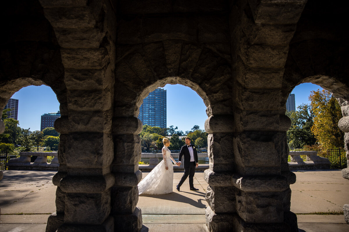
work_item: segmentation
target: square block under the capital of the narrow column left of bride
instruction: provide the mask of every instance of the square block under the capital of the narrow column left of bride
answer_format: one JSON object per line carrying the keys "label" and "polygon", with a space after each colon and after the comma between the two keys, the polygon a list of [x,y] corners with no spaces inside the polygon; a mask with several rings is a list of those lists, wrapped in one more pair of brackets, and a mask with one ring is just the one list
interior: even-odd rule
{"label": "square block under the capital of the narrow column left of bride", "polygon": [[114,135],[114,163],[135,165],[141,160],[141,139],[138,135]]}

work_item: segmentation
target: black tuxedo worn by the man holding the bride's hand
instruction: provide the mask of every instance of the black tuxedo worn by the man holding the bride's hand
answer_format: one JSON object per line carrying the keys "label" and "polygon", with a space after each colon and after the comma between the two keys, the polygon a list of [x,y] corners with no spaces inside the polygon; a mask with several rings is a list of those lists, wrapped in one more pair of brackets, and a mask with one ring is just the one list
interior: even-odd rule
{"label": "black tuxedo worn by the man holding the bride's hand", "polygon": [[190,144],[193,148],[193,155],[194,155],[194,160],[190,162],[190,152],[188,149],[187,145],[184,145],[179,152],[179,156],[178,156],[178,162],[182,161],[182,157],[184,156],[184,175],[182,176],[182,178],[180,179],[178,185],[177,185],[177,190],[179,191],[180,186],[182,186],[182,184],[184,183],[184,181],[186,180],[186,178],[189,176],[189,187],[190,189],[194,189],[194,174],[195,174],[195,166],[196,163],[198,163],[198,152],[196,151],[196,148],[193,144]]}

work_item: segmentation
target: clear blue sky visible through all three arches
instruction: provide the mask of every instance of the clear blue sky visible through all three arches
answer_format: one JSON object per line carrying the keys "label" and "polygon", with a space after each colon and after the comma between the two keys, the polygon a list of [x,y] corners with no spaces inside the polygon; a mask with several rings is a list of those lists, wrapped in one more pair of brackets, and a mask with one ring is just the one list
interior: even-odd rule
{"label": "clear blue sky visible through all three arches", "polygon": [[[194,90],[182,85],[166,85],[167,90],[167,127],[178,127],[179,130],[190,130],[194,125],[204,129],[206,106]],[[296,107],[309,103],[312,90],[320,86],[303,83],[292,90],[295,94]],[[12,98],[18,99],[18,120],[20,127],[31,131],[40,130],[40,119],[44,113],[57,112],[57,96],[48,86],[28,86],[16,92]]]}

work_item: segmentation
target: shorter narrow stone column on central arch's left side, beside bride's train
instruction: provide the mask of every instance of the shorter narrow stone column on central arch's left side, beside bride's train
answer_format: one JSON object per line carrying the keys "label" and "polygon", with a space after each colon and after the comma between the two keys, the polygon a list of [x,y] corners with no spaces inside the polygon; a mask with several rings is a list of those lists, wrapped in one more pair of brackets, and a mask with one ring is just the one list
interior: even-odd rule
{"label": "shorter narrow stone column on central arch's left side, beside bride's train", "polygon": [[115,183],[111,190],[111,214],[115,231],[139,231],[142,228],[142,212],[136,207],[138,183],[142,172],[138,169],[141,160],[141,143],[138,134],[142,122],[136,117],[113,118],[114,161],[112,172]]}

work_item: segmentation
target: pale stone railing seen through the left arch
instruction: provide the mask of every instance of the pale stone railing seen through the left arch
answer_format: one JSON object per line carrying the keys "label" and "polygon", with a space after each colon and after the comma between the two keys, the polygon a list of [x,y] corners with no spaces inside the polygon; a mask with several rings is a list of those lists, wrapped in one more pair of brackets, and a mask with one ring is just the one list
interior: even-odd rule
{"label": "pale stone railing seen through the left arch", "polygon": [[[37,156],[34,162],[30,162],[31,156]],[[51,163],[47,163],[47,157],[53,156]],[[20,158],[10,159],[7,163],[8,170],[58,170],[57,152],[20,152]]]}

